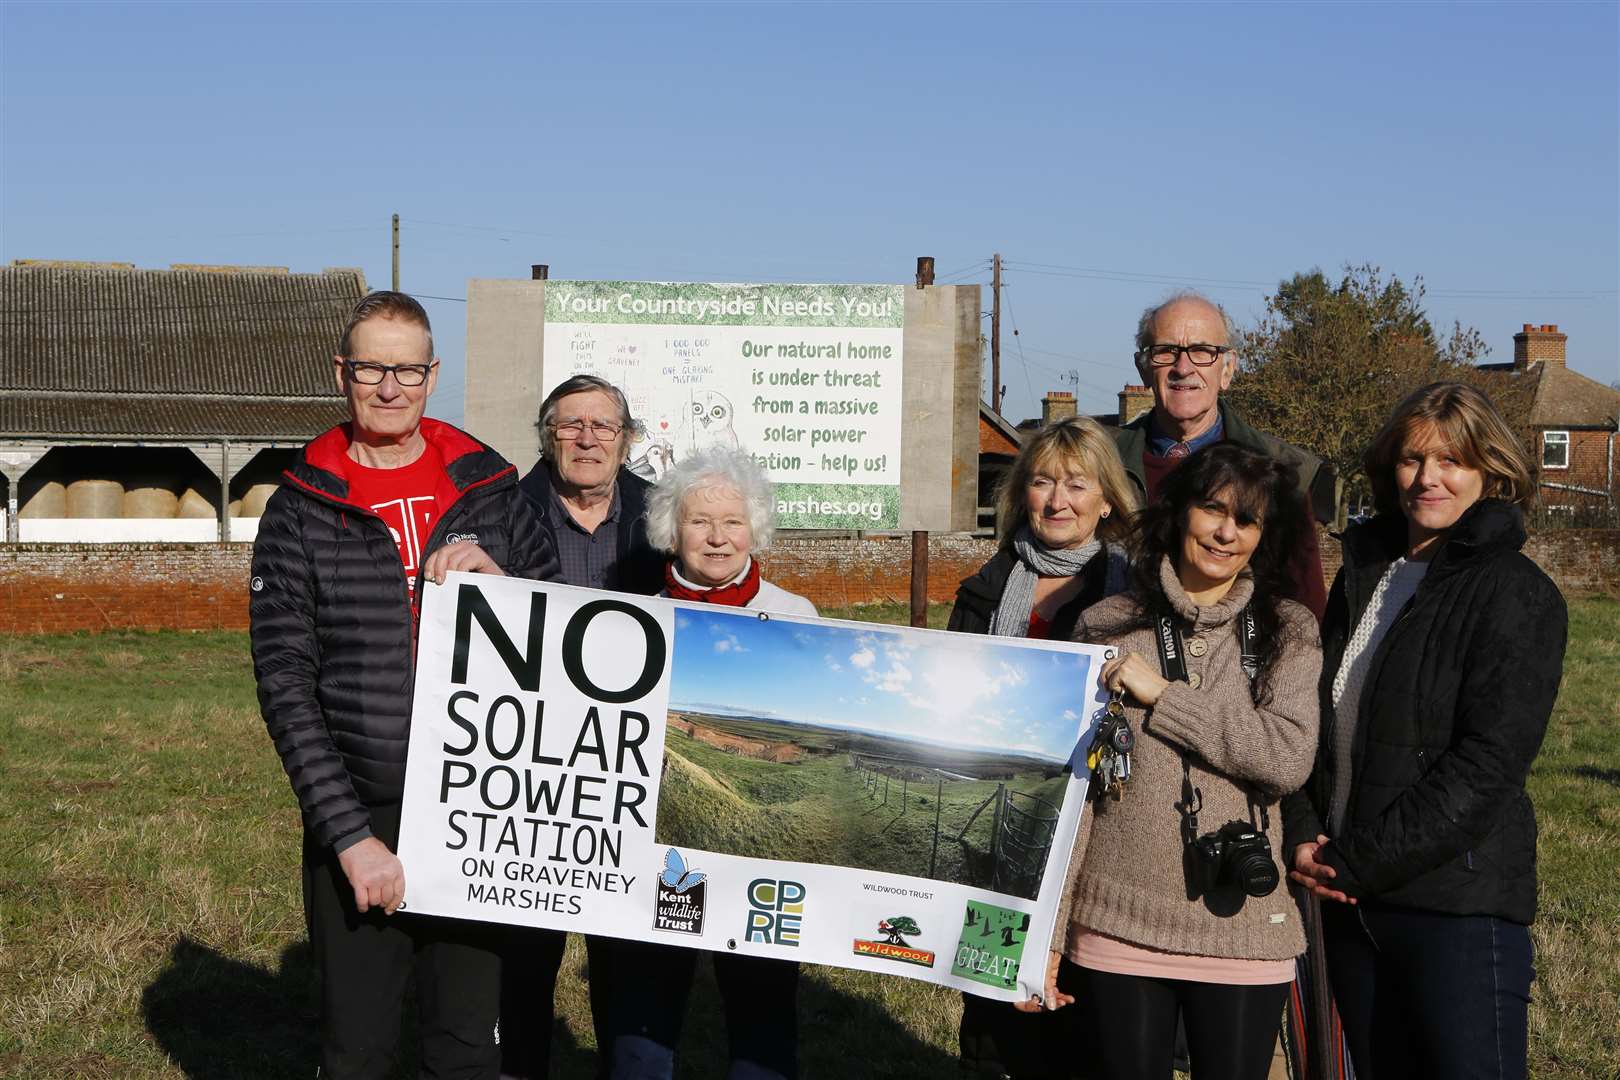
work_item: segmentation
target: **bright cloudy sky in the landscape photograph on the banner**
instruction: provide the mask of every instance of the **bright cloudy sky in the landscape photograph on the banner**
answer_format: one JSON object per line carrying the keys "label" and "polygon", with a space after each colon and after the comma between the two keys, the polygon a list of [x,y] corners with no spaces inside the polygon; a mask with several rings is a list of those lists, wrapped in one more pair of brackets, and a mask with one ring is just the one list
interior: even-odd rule
{"label": "bright cloudy sky in the landscape photograph on the banner", "polygon": [[1068,761],[1094,690],[1085,654],[998,638],[682,607],[669,708]]}

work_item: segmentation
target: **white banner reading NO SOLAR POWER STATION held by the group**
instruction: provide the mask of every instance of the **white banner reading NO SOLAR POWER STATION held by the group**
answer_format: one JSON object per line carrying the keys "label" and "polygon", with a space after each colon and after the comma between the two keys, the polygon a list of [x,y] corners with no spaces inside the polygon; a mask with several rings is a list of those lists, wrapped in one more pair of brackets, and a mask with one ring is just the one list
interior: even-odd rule
{"label": "white banner reading NO SOLAR POWER STATION held by the group", "polygon": [[1022,999],[1108,654],[449,575],[405,907]]}

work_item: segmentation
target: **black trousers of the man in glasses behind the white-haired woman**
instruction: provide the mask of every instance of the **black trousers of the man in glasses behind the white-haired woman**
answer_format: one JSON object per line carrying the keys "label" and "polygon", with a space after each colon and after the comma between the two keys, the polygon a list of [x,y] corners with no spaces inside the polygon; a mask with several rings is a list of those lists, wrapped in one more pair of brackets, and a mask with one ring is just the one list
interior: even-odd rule
{"label": "black trousers of the man in glasses behind the white-haired woman", "polygon": [[[544,1080],[551,1070],[551,1030],[557,1017],[557,968],[569,936],[531,926],[507,926],[501,933],[501,1077]],[[599,1077],[608,1075],[612,1046],[608,1023],[612,944],[611,938],[585,936]]]}

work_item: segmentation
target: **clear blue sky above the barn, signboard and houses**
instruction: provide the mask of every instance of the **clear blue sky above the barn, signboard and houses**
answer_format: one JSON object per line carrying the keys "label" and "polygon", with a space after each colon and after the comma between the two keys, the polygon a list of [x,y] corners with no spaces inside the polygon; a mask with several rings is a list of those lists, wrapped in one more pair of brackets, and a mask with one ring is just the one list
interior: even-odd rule
{"label": "clear blue sky above the barn, signboard and houses", "polygon": [[[467,280],[988,280],[1006,411],[1140,309],[1375,262],[1620,379],[1614,3],[0,5],[0,259]],[[985,298],[988,309],[988,295]],[[1013,329],[1019,335],[1013,335]],[[1069,382],[1072,372],[1077,382]]]}

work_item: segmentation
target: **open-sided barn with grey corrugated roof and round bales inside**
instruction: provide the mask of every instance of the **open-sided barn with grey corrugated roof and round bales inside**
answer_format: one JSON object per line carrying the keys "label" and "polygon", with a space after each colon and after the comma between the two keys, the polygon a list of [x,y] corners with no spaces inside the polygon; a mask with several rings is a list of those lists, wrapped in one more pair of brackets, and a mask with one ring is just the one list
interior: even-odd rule
{"label": "open-sided barn with grey corrugated roof and round bales inside", "polygon": [[282,468],[347,416],[353,269],[18,259],[0,267],[0,541],[246,541]]}

